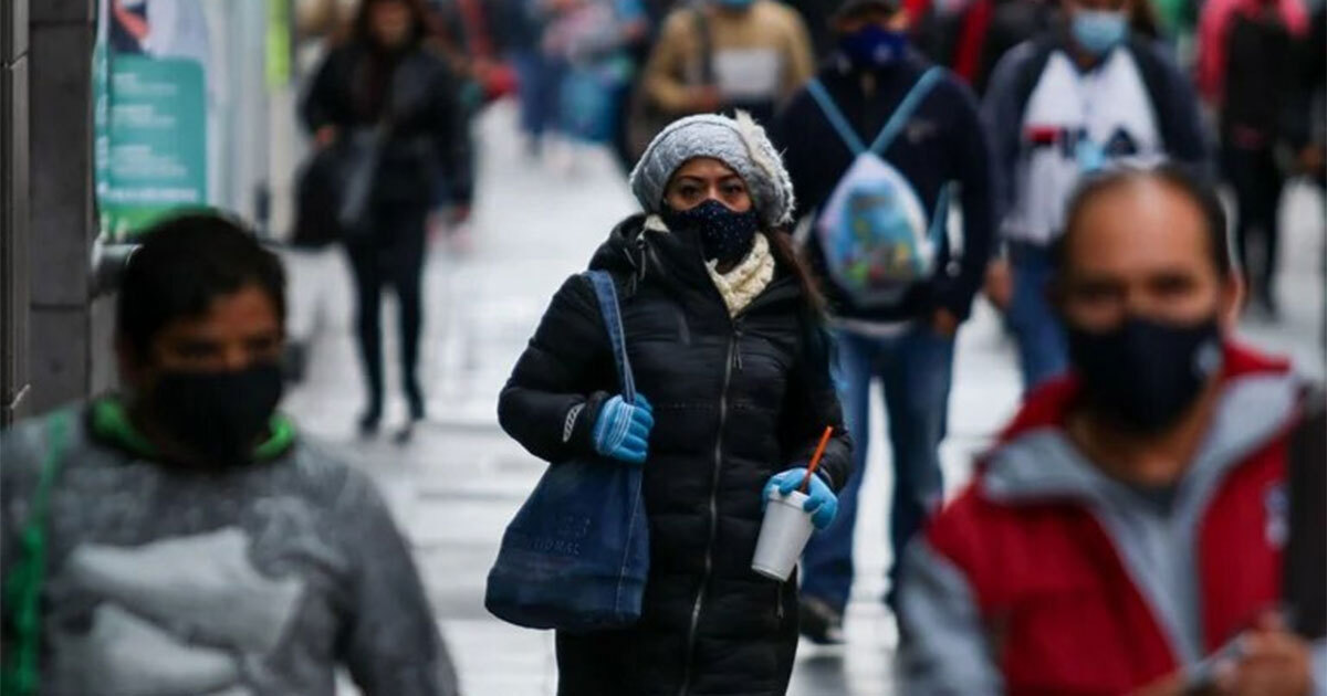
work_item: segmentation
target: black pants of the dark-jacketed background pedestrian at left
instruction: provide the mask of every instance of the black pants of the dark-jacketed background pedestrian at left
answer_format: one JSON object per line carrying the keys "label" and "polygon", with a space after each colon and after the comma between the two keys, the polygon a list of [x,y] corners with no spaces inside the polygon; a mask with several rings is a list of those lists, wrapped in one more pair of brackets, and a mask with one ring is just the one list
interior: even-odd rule
{"label": "black pants of the dark-jacketed background pedestrian at left", "polygon": [[390,285],[401,310],[401,377],[411,416],[422,416],[419,330],[423,323],[423,264],[427,205],[374,205],[372,232],[346,241],[354,273],[357,335],[369,390],[368,412],[382,412],[382,288]]}

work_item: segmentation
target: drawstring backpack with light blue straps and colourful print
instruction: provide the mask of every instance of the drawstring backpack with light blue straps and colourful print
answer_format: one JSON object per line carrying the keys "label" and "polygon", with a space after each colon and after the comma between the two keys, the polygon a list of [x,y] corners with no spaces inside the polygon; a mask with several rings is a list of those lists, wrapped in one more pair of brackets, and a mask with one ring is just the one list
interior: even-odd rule
{"label": "drawstring backpack with light blue straps and colourful print", "polygon": [[815,233],[831,280],[860,308],[893,305],[934,270],[949,221],[950,187],[941,188],[934,215],[928,220],[921,198],[882,154],[943,74],[942,68],[926,70],[871,147],[861,142],[819,80],[807,85],[856,156],[821,207]]}

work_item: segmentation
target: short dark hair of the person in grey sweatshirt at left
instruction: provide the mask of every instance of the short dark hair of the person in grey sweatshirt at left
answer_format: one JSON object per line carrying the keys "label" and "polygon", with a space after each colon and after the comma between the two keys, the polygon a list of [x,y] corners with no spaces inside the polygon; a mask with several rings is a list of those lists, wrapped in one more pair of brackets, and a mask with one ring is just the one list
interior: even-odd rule
{"label": "short dark hair of the person in grey sweatshirt at left", "polygon": [[202,317],[218,297],[256,285],[285,321],[285,272],[240,223],[190,212],[157,223],[138,237],[121,276],[115,334],[146,358],[169,323]]}

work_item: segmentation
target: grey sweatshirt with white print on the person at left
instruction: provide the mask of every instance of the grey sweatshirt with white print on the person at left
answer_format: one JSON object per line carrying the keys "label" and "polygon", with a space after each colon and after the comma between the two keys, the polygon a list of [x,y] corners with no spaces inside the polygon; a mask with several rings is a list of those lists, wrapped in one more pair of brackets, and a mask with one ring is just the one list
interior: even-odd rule
{"label": "grey sweatshirt with white print on the person at left", "polygon": [[[133,453],[131,432],[88,414],[68,414],[44,516],[41,693],[321,696],[338,666],[369,696],[456,693],[410,553],[365,475],[305,440],[248,467],[184,471]],[[49,432],[31,420],[0,434],[7,598]],[[3,607],[7,655],[15,605]]]}

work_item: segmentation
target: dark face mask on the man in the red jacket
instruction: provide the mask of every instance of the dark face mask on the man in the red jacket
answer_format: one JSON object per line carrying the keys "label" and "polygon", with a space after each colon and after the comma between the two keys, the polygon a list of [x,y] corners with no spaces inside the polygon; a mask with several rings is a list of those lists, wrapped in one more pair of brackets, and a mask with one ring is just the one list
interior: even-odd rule
{"label": "dark face mask on the man in the red jacket", "polygon": [[1176,325],[1131,317],[1104,333],[1070,326],[1068,341],[1087,407],[1139,435],[1174,426],[1222,362],[1216,318]]}

